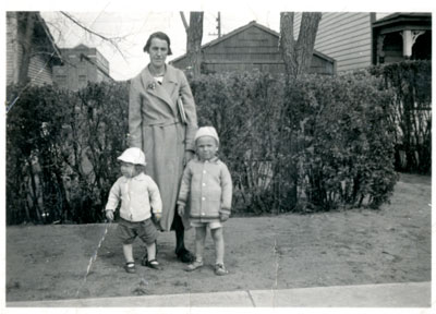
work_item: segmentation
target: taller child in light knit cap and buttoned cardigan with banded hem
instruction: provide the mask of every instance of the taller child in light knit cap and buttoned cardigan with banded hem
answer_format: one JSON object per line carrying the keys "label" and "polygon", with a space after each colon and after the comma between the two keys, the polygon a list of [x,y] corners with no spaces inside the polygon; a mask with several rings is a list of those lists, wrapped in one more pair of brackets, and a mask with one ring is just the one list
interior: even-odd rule
{"label": "taller child in light knit cap and buttoned cardigan with banded hem", "polygon": [[223,263],[222,222],[230,216],[231,176],[227,166],[216,156],[219,137],[213,126],[199,128],[194,140],[196,157],[191,159],[184,169],[178,198],[180,216],[184,215],[186,203],[190,203],[191,226],[195,228],[195,261],[187,265],[186,270],[192,271],[203,266],[208,228],[215,243],[215,274],[226,275],[228,270]]}

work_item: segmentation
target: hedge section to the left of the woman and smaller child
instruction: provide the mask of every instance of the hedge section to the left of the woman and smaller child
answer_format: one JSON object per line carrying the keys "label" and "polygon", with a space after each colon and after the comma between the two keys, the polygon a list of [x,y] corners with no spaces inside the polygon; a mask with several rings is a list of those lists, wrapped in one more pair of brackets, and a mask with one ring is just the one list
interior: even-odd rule
{"label": "hedge section to the left of the woman and smaller child", "polygon": [[7,222],[96,222],[119,176],[128,133],[126,83],[19,94],[7,118]]}

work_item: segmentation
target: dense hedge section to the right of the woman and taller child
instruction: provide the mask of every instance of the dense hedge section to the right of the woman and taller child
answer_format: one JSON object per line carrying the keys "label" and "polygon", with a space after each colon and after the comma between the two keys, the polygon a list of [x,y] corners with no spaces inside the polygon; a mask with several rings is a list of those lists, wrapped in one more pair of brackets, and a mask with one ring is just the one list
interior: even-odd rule
{"label": "dense hedge section to the right of the woman and taller child", "polygon": [[367,73],[303,76],[286,88],[268,74],[192,81],[201,124],[221,138],[235,209],[316,212],[371,206],[392,193],[390,90]]}

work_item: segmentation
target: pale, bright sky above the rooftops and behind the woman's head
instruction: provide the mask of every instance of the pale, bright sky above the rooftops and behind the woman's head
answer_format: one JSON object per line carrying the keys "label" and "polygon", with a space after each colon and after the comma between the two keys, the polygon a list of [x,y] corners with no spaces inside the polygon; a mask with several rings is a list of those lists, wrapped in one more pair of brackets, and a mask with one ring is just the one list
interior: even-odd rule
{"label": "pale, bright sky above the rooftops and behind the woman's head", "polygon": [[[110,75],[119,80],[128,80],[136,75],[148,63],[148,55],[143,51],[149,34],[161,31],[171,39],[172,56],[167,61],[186,52],[186,33],[179,11],[138,11],[138,12],[74,12],[65,11],[81,24],[108,38],[114,38],[119,51],[113,45],[89,35],[76,26],[59,11],[41,11],[41,16],[50,28],[59,48],[73,48],[78,44],[96,47],[110,63]],[[184,12],[189,22],[190,12]],[[206,44],[218,38],[218,11],[204,13],[203,41]],[[256,21],[276,32],[279,31],[280,12],[245,11],[220,12],[221,35]]]}

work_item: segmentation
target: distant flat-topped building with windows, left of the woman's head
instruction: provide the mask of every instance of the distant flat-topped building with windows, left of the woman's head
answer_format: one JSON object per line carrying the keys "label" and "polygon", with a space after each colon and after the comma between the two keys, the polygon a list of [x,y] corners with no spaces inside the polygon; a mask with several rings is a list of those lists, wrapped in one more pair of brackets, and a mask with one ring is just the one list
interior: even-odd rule
{"label": "distant flat-topped building with windows, left of the woman's head", "polygon": [[85,45],[60,49],[63,64],[53,68],[53,82],[61,88],[77,90],[88,82],[110,82],[109,61]]}

